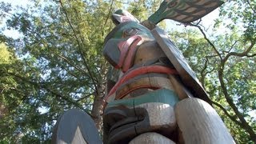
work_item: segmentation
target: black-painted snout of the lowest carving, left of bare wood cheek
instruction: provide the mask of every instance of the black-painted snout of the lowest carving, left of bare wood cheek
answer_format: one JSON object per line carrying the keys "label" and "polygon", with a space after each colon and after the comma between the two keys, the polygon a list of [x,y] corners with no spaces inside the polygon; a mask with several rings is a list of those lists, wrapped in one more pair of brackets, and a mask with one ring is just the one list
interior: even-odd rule
{"label": "black-painted snout of the lowest carving, left of bare wood cheek", "polygon": [[144,108],[111,107],[104,115],[104,128],[106,128],[105,130],[108,134],[108,141],[115,143],[124,139],[134,138],[137,135],[137,127],[141,127],[140,125],[142,124],[149,124],[146,121],[146,119],[149,119],[147,115],[147,111]]}

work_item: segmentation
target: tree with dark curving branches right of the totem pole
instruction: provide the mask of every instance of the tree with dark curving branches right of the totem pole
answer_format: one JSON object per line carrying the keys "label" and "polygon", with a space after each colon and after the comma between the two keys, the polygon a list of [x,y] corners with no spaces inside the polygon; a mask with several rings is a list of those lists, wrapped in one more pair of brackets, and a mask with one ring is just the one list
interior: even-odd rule
{"label": "tree with dark curving branches right of the totem pole", "polygon": [[[226,2],[214,34],[207,34],[200,23],[189,25],[196,29],[170,34],[238,143],[256,142],[256,119],[250,115],[256,108],[255,8],[255,2]],[[220,33],[221,26],[226,31]]]}

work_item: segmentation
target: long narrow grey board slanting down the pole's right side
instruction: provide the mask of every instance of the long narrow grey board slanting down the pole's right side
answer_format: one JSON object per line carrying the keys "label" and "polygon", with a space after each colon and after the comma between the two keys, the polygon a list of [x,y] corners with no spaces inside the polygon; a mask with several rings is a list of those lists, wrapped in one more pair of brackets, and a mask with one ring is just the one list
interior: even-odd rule
{"label": "long narrow grey board slanting down the pole's right side", "polygon": [[186,62],[182,52],[178,50],[173,42],[170,41],[167,34],[158,27],[151,30],[151,33],[154,35],[154,38],[166,56],[170,59],[170,62],[172,62],[175,69],[178,71],[178,74],[182,78],[183,84],[191,91],[194,97],[201,98],[202,100],[205,100],[211,104],[206,91],[198,81],[194,71]]}

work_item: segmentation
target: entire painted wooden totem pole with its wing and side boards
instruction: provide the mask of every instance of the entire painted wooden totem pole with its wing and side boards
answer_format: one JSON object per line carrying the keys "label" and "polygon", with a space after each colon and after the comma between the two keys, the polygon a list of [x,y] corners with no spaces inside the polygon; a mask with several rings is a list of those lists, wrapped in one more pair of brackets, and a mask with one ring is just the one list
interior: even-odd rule
{"label": "entire painted wooden totem pole with its wing and side boards", "polygon": [[[103,53],[115,70],[103,104],[103,143],[234,143],[182,53],[156,26],[165,18],[194,22],[221,4],[165,0],[144,22],[125,10],[112,15],[116,27]],[[54,143],[101,143],[90,118],[80,112],[74,121],[73,113],[58,120]]]}

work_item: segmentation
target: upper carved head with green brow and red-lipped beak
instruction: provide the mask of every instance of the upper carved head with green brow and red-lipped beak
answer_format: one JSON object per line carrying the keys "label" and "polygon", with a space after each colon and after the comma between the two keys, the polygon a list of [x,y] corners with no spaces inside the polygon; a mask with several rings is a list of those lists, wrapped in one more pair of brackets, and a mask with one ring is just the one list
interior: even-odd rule
{"label": "upper carved head with green brow and red-lipped beak", "polygon": [[138,22],[123,22],[106,36],[103,54],[117,69],[126,72],[133,65],[138,46],[154,40],[145,26]]}

